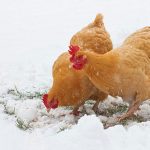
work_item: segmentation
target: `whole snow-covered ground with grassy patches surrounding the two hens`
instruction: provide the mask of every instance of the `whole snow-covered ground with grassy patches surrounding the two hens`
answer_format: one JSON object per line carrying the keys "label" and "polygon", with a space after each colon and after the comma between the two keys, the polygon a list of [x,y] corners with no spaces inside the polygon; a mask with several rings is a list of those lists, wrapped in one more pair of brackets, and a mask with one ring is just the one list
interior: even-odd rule
{"label": "whole snow-covered ground with grassy patches surrounding the two hens", "polygon": [[52,84],[53,61],[97,13],[116,47],[150,25],[149,6],[149,0],[0,0],[0,149],[150,149],[150,101],[124,126],[104,129],[126,110],[120,98],[109,97],[97,117],[92,102],[85,105],[88,115],[74,117],[71,108],[48,114],[40,99]]}

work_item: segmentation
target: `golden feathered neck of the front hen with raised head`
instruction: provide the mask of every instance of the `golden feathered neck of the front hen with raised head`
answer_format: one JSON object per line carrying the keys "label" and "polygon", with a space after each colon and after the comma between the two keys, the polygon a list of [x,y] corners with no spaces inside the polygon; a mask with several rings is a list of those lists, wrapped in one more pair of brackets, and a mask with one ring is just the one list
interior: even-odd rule
{"label": "golden feathered neck of the front hen with raised head", "polygon": [[108,52],[100,55],[87,54],[87,64],[84,68],[89,79],[102,91],[112,89],[115,85],[119,57],[116,53]]}

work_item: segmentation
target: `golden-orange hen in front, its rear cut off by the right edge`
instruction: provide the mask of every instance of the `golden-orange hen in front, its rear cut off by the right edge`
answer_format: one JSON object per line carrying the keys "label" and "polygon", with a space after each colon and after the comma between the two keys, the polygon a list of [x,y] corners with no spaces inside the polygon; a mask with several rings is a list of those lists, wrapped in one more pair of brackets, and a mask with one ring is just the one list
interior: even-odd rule
{"label": "golden-orange hen in front, its rear cut off by the right edge", "polygon": [[133,115],[150,98],[150,27],[138,30],[106,54],[79,51],[72,62],[75,69],[80,64],[100,91],[129,102],[127,113],[119,121]]}

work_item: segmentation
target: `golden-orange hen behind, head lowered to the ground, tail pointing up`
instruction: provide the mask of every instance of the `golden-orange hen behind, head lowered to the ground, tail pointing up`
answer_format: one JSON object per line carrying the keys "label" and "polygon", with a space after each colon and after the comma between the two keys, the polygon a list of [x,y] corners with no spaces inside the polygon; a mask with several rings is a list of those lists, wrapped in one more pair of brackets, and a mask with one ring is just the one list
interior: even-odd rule
{"label": "golden-orange hen behind, head lowered to the ground, tail pointing up", "polygon": [[[76,33],[71,41],[70,49],[76,51],[83,48],[97,53],[105,53],[112,49],[112,42],[105,30],[102,15],[98,14],[93,23]],[[78,45],[78,46],[73,46]],[[96,111],[100,100],[104,100],[107,94],[100,92],[83,74],[76,71],[70,65],[70,55],[65,52],[58,57],[53,65],[53,85],[43,101],[47,110],[59,106],[74,106],[73,114],[78,114],[78,108],[88,99],[97,102],[93,106]]]}

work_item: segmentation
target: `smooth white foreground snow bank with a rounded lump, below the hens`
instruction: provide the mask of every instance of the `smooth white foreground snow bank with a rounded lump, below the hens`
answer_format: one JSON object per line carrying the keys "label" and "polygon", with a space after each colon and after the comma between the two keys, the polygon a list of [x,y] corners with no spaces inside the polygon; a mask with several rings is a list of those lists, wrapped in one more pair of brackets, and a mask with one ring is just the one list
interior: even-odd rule
{"label": "smooth white foreground snow bank with a rounded lump, below the hens", "polygon": [[128,129],[117,125],[104,130],[99,119],[91,115],[82,117],[72,129],[59,134],[48,134],[52,132],[51,129],[47,133],[24,133],[8,121],[0,121],[0,128],[5,128],[0,137],[4,149],[149,149],[150,135],[147,133],[150,132],[150,122],[136,124]]}

